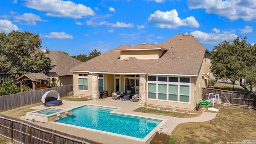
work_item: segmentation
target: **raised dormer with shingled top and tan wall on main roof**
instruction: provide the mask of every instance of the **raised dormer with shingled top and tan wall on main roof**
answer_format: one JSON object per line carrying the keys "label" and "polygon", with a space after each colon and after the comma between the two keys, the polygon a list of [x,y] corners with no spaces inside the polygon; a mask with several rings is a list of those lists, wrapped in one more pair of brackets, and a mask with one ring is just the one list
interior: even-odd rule
{"label": "raised dormer with shingled top and tan wall on main roof", "polygon": [[120,51],[120,60],[130,57],[137,58],[138,60],[157,60],[164,51],[168,50],[154,44],[142,43],[138,45],[122,46],[116,51]]}

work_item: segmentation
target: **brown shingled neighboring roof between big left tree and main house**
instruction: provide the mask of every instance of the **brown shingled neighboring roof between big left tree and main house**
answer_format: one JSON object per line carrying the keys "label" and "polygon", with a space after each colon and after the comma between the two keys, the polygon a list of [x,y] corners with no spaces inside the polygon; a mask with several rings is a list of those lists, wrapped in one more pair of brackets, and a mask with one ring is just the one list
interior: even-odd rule
{"label": "brown shingled neighboring roof between big left tree and main house", "polygon": [[73,75],[73,73],[70,72],[71,68],[82,63],[80,60],[58,50],[50,51],[49,54],[45,54],[45,56],[48,56],[52,62],[52,69],[46,73],[56,73],[57,76]]}

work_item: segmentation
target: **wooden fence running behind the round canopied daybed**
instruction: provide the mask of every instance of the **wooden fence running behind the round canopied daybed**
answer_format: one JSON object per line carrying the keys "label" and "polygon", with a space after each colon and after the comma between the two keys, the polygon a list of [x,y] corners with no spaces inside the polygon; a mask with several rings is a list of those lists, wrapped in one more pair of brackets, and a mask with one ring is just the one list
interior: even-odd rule
{"label": "wooden fence running behind the round canopied daybed", "polygon": [[73,94],[73,84],[0,96],[0,112],[41,102],[42,95],[49,90],[56,90],[60,97],[68,96]]}

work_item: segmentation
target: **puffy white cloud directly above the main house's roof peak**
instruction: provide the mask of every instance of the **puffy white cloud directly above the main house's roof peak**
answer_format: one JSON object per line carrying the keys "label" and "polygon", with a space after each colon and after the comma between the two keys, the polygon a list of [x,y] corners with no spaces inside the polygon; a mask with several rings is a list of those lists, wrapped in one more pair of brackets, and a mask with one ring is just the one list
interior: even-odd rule
{"label": "puffy white cloud directly above the main house's roof peak", "polygon": [[157,10],[154,14],[150,14],[148,24],[152,24],[158,28],[178,28],[180,26],[189,26],[192,28],[199,27],[199,23],[196,21],[194,16],[190,16],[182,20],[178,17],[176,9],[171,10],[170,12]]}

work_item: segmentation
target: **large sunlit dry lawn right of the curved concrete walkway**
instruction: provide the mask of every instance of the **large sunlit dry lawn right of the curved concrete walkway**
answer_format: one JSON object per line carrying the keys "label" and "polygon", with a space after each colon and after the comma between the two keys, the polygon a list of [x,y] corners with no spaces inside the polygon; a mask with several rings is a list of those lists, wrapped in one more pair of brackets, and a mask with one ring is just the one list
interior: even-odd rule
{"label": "large sunlit dry lawn right of the curved concrete walkway", "polygon": [[226,144],[255,140],[256,110],[220,104],[214,104],[214,107],[219,112],[213,120],[179,124],[171,136],[166,135],[168,144]]}

